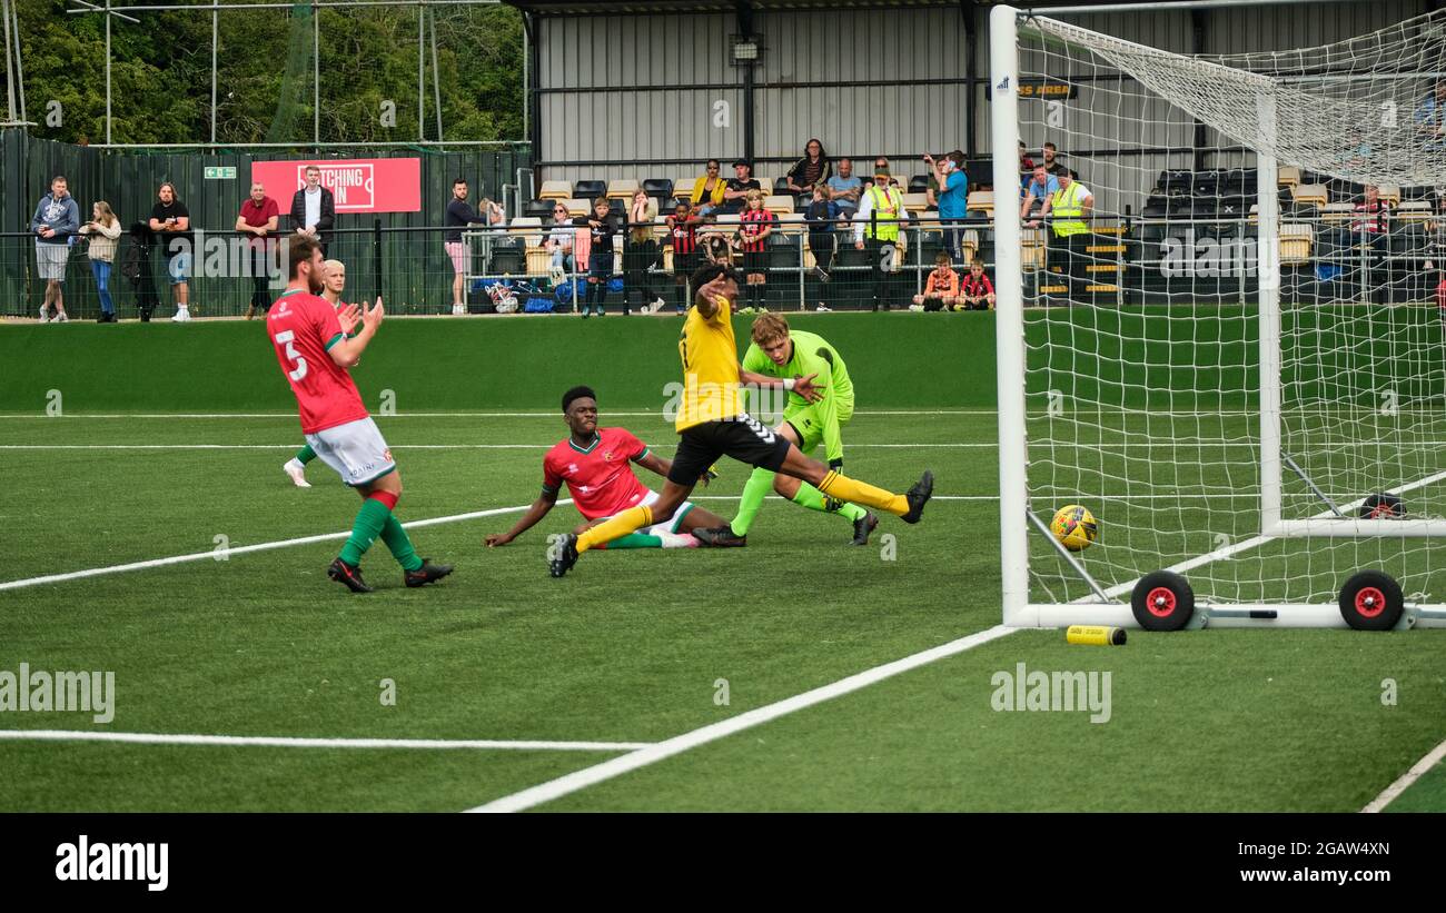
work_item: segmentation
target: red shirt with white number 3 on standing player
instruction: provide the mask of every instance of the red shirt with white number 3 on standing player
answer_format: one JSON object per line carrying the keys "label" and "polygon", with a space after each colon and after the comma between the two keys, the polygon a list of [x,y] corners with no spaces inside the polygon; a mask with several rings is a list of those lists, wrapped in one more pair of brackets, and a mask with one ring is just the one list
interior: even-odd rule
{"label": "red shirt with white number 3 on standing player", "polygon": [[347,370],[328,354],[341,342],[337,311],[320,295],[291,290],[276,299],[266,315],[266,335],[276,347],[276,361],[296,394],[301,430],[318,430],[366,417],[362,394]]}

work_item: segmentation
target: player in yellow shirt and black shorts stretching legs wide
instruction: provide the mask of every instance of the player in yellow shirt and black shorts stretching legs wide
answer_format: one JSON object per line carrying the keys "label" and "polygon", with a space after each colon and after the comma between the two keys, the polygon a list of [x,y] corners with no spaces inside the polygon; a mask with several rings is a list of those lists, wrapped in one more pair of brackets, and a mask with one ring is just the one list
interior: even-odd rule
{"label": "player in yellow shirt and black shorts stretching legs wide", "polygon": [[722,266],[706,266],[694,273],[693,287],[697,289],[697,296],[683,322],[683,339],[678,342],[678,354],[683,357],[683,402],[675,422],[678,451],[662,494],[654,504],[629,507],[581,536],[561,536],[548,555],[551,575],[565,575],[577,563],[578,555],[589,549],[641,527],[671,520],[698,477],[723,455],[769,472],[801,478],[840,501],[876,507],[902,517],[905,523],[918,523],[924,504],[934,491],[933,472],[925,471],[908,494],[875,488],[804,456],[788,439],[743,412],[739,381],[797,390],[810,402],[817,402],[823,393],[813,384],[813,377],[779,380],[739,367],[732,319],[737,273]]}

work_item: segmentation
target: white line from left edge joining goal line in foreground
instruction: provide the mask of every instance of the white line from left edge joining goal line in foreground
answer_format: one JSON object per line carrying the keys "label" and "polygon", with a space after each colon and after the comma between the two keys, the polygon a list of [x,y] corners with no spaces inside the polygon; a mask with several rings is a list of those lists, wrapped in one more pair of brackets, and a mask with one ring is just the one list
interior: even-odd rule
{"label": "white line from left edge joining goal line in foreground", "polygon": [[0,741],[104,741],[133,745],[231,745],[263,748],[473,748],[483,751],[639,751],[654,744],[495,738],[301,738],[292,735],[91,732],[87,730],[0,730]]}

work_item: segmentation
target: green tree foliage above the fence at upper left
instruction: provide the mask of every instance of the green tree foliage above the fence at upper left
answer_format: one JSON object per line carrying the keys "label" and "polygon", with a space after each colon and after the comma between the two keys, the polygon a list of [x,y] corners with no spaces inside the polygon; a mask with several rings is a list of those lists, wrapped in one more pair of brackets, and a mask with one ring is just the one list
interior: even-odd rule
{"label": "green tree foliage above the fence at upper left", "polygon": [[[139,0],[145,1],[145,0]],[[171,0],[207,3],[210,0]],[[241,0],[220,0],[234,4]],[[65,0],[19,0],[26,114],[32,133],[104,142],[106,23],[68,14]],[[522,19],[506,6],[318,10],[322,142],[415,142],[418,53],[425,66],[425,139],[522,140]],[[210,10],[130,13],[111,22],[111,142],[211,137]],[[215,17],[218,143],[312,139],[312,9],[221,10]],[[442,137],[437,136],[431,33],[437,35]],[[61,123],[46,123],[51,101]],[[395,124],[383,114],[395,105]]]}

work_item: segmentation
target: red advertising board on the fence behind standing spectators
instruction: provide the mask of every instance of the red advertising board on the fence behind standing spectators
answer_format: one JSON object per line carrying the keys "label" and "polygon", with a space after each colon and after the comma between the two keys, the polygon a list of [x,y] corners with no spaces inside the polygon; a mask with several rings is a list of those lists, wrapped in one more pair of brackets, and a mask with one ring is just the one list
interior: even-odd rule
{"label": "red advertising board on the fence behind standing spectators", "polygon": [[321,169],[337,212],[416,212],[422,208],[421,159],[318,159],[315,162],[252,162],[252,182],[285,212],[291,196],[307,185],[307,168]]}

